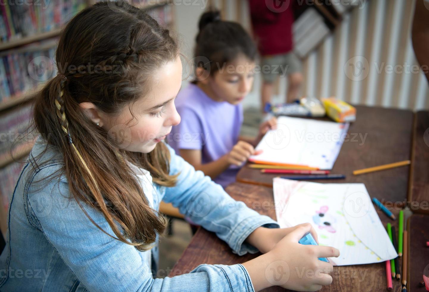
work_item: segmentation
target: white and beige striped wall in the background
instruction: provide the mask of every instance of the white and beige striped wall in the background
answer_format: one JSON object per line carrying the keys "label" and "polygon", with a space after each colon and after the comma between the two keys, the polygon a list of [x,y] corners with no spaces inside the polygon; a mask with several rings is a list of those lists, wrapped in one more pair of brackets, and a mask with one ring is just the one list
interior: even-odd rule
{"label": "white and beige striped wall in the background", "polygon": [[[207,0],[191,2],[199,5],[175,6],[176,30],[182,36],[182,52],[188,58],[193,55],[197,23]],[[226,18],[240,21],[251,30],[247,0],[211,2],[218,8],[226,4]],[[302,61],[302,95],[335,95],[356,104],[428,109],[426,78],[421,72],[411,72],[413,66],[418,66],[410,35],[414,3],[415,0],[371,0],[345,15],[341,24]],[[236,19],[239,15],[241,19]],[[350,76],[350,66],[359,61],[368,62],[363,79]],[[389,65],[396,66],[399,73],[391,73]],[[260,84],[257,76],[253,91],[243,102],[245,107],[259,106]],[[286,86],[286,80],[281,80],[273,101],[283,102]]]}

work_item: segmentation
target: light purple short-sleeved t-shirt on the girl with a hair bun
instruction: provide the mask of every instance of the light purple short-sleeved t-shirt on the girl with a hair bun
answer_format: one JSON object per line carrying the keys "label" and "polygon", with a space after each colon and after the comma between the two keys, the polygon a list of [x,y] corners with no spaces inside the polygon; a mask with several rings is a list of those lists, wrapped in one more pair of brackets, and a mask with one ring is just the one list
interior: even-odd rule
{"label": "light purple short-sleeved t-shirt on the girl with a hair bun", "polygon": [[[197,85],[190,83],[178,93],[175,105],[181,122],[173,126],[166,141],[176,154],[180,154],[179,149],[199,149],[205,164],[229,153],[238,142],[243,123],[241,103],[232,105],[212,100]],[[239,169],[230,165],[214,181],[225,188],[236,181]]]}

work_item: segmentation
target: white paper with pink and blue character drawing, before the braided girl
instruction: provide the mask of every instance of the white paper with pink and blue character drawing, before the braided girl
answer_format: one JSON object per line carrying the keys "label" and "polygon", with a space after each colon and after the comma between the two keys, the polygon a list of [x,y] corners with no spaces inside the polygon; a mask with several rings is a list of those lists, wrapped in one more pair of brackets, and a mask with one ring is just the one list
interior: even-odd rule
{"label": "white paper with pink and blue character drawing, before the braided girl", "polygon": [[370,264],[398,256],[363,183],[275,178],[273,189],[280,227],[310,222],[320,245],[340,251],[338,258],[329,258],[333,265]]}

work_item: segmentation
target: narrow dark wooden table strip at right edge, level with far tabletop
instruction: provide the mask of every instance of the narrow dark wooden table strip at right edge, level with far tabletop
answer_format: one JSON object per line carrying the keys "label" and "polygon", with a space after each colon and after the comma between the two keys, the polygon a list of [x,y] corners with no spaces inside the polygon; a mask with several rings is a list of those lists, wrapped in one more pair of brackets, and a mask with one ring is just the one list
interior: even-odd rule
{"label": "narrow dark wooden table strip at right edge, level with far tabletop", "polygon": [[[429,214],[429,112],[415,113],[408,201],[414,213]],[[429,253],[429,251],[428,251]]]}

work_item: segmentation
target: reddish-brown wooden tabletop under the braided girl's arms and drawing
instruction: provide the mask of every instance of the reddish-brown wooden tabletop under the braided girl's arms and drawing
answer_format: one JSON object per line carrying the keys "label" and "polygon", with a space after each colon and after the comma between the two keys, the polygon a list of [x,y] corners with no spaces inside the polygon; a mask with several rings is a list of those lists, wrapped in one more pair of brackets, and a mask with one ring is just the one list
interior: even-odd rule
{"label": "reddish-brown wooden tabletop under the braided girl's arms and drawing", "polygon": [[[244,201],[245,204],[260,214],[275,217],[275,206],[272,188],[246,183],[233,183],[226,191],[232,198]],[[397,215],[397,211],[394,211]],[[397,220],[393,221],[381,211],[378,211],[383,224],[392,223],[397,229]],[[247,262],[260,254],[237,256],[231,252],[230,247],[209,231],[199,228],[192,238],[189,246],[174,266],[170,276],[185,274],[200,264],[234,265]],[[385,291],[387,286],[385,264],[353,265],[335,267],[333,281],[321,291]],[[393,280],[393,290],[400,291],[399,281]],[[271,287],[264,291],[286,291],[280,287]]]}

